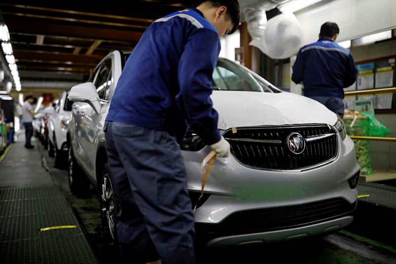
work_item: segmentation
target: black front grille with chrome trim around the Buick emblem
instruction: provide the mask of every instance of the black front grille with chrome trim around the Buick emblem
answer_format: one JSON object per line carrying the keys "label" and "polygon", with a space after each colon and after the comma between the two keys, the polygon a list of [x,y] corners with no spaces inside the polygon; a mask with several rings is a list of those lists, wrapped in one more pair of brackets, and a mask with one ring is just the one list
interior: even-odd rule
{"label": "black front grille with chrome trim around the Buick emblem", "polygon": [[[286,138],[299,133],[306,140],[305,150],[292,153]],[[231,145],[232,155],[242,164],[263,169],[300,169],[312,167],[337,156],[337,132],[327,125],[305,127],[254,127],[227,130],[223,135]]]}

